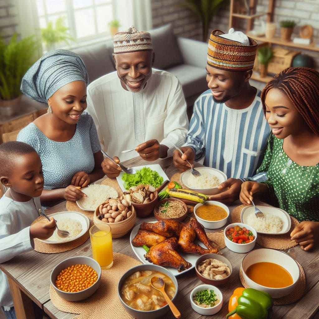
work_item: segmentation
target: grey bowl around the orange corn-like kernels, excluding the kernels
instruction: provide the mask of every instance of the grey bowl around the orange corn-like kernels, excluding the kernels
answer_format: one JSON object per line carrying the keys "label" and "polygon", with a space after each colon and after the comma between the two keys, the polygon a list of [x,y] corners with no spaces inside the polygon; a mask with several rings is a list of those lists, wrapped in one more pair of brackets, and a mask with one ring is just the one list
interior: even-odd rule
{"label": "grey bowl around the orange corn-like kernels, excluding the kernels", "polygon": [[[61,270],[72,266],[76,264],[81,265],[88,265],[91,266],[98,274],[98,279],[96,282],[90,286],[89,288],[86,288],[82,291],[78,291],[76,293],[66,293],[58,288],[56,288],[56,277],[61,272]],[[53,289],[56,291],[56,293],[63,299],[68,301],[79,301],[83,300],[85,298],[90,297],[100,286],[100,279],[101,279],[101,267],[100,265],[91,257],[86,256],[76,256],[76,257],[70,257],[65,260],[63,260],[61,263],[58,263],[53,270],[51,271],[50,275],[50,282],[53,287]]]}

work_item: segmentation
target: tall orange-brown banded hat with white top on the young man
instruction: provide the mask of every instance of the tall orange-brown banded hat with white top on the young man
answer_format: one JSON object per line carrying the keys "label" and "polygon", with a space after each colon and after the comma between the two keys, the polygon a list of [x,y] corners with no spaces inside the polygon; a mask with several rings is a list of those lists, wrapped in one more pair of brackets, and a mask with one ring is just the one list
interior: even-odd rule
{"label": "tall orange-brown banded hat with white top on the young man", "polygon": [[257,41],[240,31],[230,29],[228,34],[216,29],[208,41],[208,65],[230,71],[251,70],[254,66]]}

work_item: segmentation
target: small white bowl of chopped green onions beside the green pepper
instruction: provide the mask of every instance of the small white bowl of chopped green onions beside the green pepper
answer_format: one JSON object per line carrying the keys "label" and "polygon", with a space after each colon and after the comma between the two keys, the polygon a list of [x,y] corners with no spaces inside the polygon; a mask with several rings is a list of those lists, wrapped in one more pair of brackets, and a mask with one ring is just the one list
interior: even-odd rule
{"label": "small white bowl of chopped green onions beside the green pepper", "polygon": [[190,304],[200,315],[214,315],[223,306],[223,294],[212,285],[199,285],[190,293]]}

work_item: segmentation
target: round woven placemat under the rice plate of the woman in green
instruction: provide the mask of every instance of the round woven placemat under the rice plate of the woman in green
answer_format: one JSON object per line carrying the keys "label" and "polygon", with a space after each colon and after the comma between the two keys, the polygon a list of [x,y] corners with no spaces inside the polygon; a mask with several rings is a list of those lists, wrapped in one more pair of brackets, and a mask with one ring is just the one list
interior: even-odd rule
{"label": "round woven placemat under the rice plate of the woman in green", "polygon": [[[234,208],[232,211],[232,222],[233,223],[240,223],[240,214],[242,209],[246,207],[246,205],[239,205]],[[294,240],[290,239],[290,233],[293,229],[299,225],[299,222],[294,217],[290,216],[291,219],[291,227],[288,233],[282,235],[265,235],[265,234],[258,234],[257,236],[257,244],[262,246],[263,248],[273,248],[278,250],[286,250],[298,245]]]}

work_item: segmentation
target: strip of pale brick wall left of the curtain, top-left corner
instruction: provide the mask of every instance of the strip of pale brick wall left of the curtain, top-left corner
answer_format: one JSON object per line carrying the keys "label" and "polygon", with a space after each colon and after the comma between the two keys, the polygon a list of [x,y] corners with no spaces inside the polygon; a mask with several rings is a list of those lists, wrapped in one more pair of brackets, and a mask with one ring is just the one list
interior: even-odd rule
{"label": "strip of pale brick wall left of the curtain, top-left corner", "polygon": [[13,1],[0,0],[0,36],[8,42],[18,32],[18,15]]}

